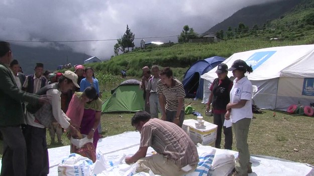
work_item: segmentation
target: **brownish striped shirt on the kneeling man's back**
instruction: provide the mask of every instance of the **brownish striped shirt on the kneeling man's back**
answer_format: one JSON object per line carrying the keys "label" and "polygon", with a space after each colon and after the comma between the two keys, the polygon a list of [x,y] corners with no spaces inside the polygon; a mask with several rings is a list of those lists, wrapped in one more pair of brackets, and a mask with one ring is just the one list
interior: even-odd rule
{"label": "brownish striped shirt on the kneeling man's back", "polygon": [[148,146],[173,160],[180,168],[198,163],[198,154],[193,141],[172,122],[158,118],[146,122],[141,130],[140,147]]}

